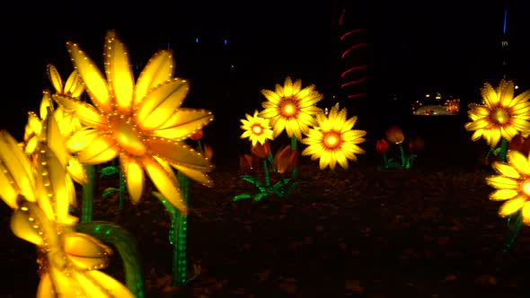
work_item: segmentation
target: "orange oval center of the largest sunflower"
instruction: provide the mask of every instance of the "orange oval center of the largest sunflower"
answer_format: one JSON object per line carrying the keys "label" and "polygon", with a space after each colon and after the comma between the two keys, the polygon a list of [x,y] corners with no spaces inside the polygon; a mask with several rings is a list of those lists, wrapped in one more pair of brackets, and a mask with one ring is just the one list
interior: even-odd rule
{"label": "orange oval center of the largest sunflower", "polygon": [[110,119],[110,129],[112,137],[123,150],[136,156],[146,153],[146,145],[142,143],[142,137],[131,118],[119,116]]}

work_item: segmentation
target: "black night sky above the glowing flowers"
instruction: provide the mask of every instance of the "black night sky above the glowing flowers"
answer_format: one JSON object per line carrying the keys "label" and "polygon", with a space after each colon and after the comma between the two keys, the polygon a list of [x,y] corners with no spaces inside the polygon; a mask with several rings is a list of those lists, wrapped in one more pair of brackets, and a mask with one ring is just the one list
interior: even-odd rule
{"label": "black night sky above the glowing flowers", "polygon": [[[211,125],[234,127],[238,136],[239,118],[261,109],[260,90],[283,83],[287,75],[315,83],[328,94],[337,87],[333,71],[339,61],[341,5],[321,2],[86,2],[83,9],[76,7],[80,4],[42,2],[30,10],[22,10],[26,3],[21,2],[8,12],[14,22],[1,21],[6,41],[2,92],[4,102],[14,108],[2,109],[0,128],[22,137],[27,112],[38,108],[42,89],[49,88],[46,64],[56,65],[64,77],[72,70],[67,40],[78,42],[97,60],[105,31],[116,29],[133,60],[141,64],[170,43],[176,74],[192,83],[185,105],[213,110],[216,121]],[[395,92],[414,94],[428,86],[471,98],[479,96],[481,83],[499,81],[502,2],[368,3],[351,1],[348,7],[357,12],[352,23],[368,32],[371,101],[383,101]],[[530,69],[530,25],[524,7],[510,7],[513,49],[508,61],[516,83],[530,89],[530,71],[524,71]],[[197,36],[200,47],[193,42]],[[229,54],[223,50],[225,38]],[[235,72],[226,71],[230,65]]]}

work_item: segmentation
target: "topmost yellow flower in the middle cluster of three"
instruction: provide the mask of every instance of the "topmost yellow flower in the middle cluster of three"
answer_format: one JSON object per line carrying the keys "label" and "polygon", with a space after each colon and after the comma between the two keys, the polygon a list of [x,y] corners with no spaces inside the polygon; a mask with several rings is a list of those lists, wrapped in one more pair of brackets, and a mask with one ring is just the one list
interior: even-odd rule
{"label": "topmost yellow flower in the middle cluster of three", "polygon": [[258,115],[270,119],[273,137],[285,129],[287,136],[296,136],[297,140],[301,140],[310,126],[316,126],[314,116],[323,111],[315,104],[323,99],[323,95],[314,88],[314,85],[309,85],[302,89],[301,80],[293,83],[287,76],[283,87],[277,83],[275,91],[261,90],[267,101],[262,102],[264,110]]}

